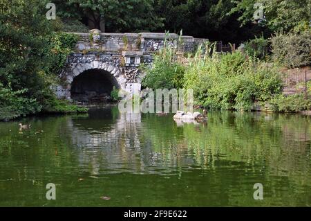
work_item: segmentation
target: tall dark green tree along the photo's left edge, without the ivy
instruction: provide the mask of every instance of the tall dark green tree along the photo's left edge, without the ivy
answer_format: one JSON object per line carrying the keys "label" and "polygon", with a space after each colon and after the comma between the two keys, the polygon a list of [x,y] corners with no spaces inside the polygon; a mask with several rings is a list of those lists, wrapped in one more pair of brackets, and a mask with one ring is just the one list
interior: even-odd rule
{"label": "tall dark green tree along the photo's left edge, without the ivy", "polygon": [[46,89],[42,67],[50,33],[45,10],[40,0],[0,3],[1,113],[19,116],[41,109]]}

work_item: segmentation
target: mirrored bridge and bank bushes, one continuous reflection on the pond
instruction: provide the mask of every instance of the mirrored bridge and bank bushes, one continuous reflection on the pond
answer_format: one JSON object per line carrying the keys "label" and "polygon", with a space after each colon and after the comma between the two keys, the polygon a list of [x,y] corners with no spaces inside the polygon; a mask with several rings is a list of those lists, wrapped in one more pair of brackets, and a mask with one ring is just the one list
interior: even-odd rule
{"label": "mirrored bridge and bank bushes, one continuous reflection on the pond", "polygon": [[91,125],[90,118],[67,121],[80,166],[87,170],[91,162],[95,175],[180,173],[182,168],[213,168],[222,159],[269,163],[273,175],[310,170],[310,122],[293,125],[297,116],[225,113],[212,116],[208,125],[180,127],[171,116],[111,115],[91,113]]}

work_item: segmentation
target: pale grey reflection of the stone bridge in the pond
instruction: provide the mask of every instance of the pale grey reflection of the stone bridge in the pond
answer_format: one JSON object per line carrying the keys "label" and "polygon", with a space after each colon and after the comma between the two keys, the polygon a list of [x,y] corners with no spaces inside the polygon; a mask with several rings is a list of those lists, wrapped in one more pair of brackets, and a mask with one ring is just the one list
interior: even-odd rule
{"label": "pale grey reflection of the stone bridge in the pond", "polygon": [[[90,118],[94,117],[92,114]],[[111,114],[105,116],[111,118]],[[80,166],[88,170],[91,163],[93,175],[99,175],[100,170],[117,173],[137,170],[138,166],[143,169],[143,165],[139,165],[145,156],[139,139],[141,115],[119,114],[114,121],[106,121],[106,117],[96,117],[92,126],[87,125],[88,118],[68,118],[67,127],[72,145],[77,148]]]}

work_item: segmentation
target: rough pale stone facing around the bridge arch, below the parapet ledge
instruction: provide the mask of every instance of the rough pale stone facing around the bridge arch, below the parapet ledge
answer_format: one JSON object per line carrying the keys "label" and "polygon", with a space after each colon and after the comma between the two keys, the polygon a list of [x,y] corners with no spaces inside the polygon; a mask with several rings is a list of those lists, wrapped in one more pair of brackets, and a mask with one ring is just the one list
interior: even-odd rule
{"label": "rough pale stone facing around the bridge arch, below the parapet ledge", "polygon": [[[53,88],[58,98],[71,99],[70,89],[73,80],[81,73],[89,70],[102,70],[109,73],[111,83],[129,93],[133,93],[133,87],[140,88],[143,73],[135,65],[125,66],[120,52],[95,52],[72,53],[66,62],[66,67],[60,74],[63,85]],[[151,63],[151,55],[141,55],[140,60]]]}

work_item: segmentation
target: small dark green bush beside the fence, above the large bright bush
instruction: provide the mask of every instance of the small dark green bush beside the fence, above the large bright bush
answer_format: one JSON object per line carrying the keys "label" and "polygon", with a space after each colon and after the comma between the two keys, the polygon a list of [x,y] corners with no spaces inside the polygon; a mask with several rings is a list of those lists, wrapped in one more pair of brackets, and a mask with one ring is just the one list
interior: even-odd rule
{"label": "small dark green bush beside the fence, above the large bright bush", "polygon": [[265,59],[268,52],[269,41],[263,37],[249,40],[245,44],[245,51],[247,55],[258,58]]}

